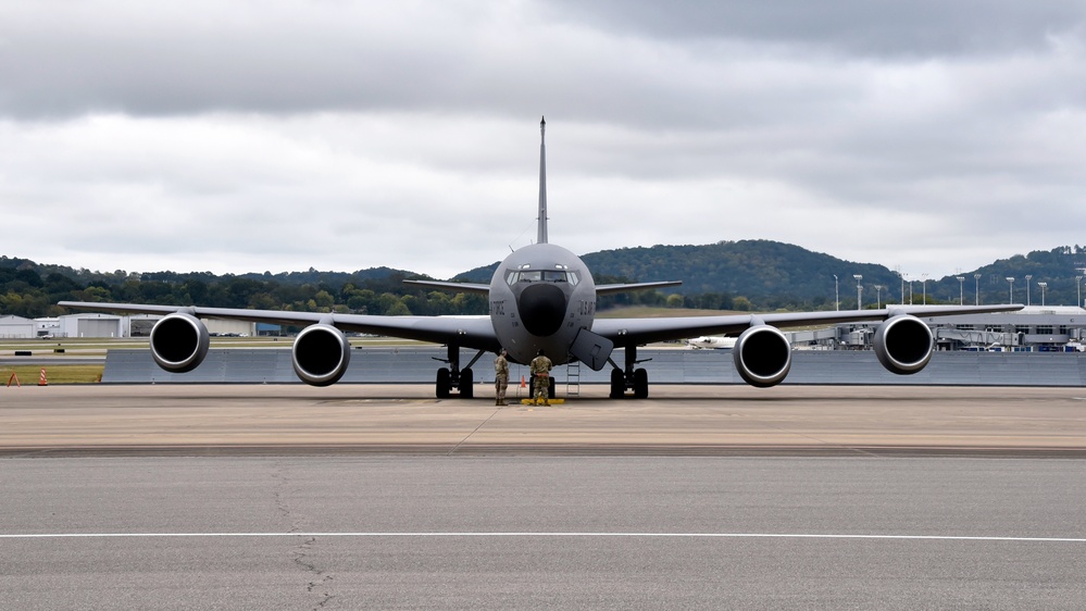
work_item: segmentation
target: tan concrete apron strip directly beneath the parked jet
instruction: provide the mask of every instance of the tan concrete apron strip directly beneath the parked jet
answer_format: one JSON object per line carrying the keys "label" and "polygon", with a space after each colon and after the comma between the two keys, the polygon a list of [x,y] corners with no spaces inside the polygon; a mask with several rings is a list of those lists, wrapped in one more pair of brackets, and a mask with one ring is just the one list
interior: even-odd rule
{"label": "tan concrete apron strip directly beneath the parked jet", "polygon": [[[515,401],[519,387],[510,389]],[[479,388],[479,395],[486,389]],[[0,389],[0,454],[578,453],[1086,456],[1086,389],[583,387],[496,407],[429,386],[50,386]]]}

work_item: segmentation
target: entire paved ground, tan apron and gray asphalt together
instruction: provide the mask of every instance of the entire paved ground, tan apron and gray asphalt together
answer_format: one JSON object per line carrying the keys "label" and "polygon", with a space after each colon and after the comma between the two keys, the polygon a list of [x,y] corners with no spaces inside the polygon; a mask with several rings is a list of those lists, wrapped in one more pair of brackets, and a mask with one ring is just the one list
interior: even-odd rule
{"label": "entire paved ground, tan apron and gray asphalt together", "polygon": [[1081,389],[429,391],[3,389],[0,606],[1086,606]]}

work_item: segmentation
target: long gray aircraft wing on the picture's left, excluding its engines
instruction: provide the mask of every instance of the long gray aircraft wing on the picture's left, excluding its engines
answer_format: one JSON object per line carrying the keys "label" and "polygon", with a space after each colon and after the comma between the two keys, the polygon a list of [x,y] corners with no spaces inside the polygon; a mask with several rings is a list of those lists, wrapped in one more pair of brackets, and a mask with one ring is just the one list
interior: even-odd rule
{"label": "long gray aircraft wing on the picture's left, excluding its engines", "polygon": [[324,322],[345,332],[370,333],[434,344],[455,344],[464,348],[497,352],[501,349],[489,316],[375,316],[321,312],[284,312],[235,308],[194,308],[141,303],[96,303],[61,301],[63,308],[133,314],[172,314],[187,312],[200,319],[225,319],[253,323],[308,326]]}

